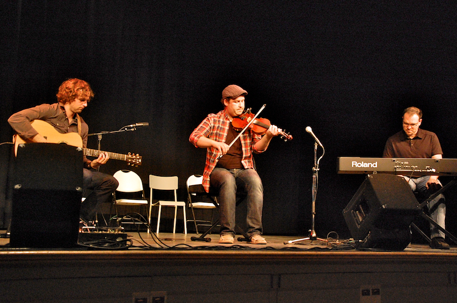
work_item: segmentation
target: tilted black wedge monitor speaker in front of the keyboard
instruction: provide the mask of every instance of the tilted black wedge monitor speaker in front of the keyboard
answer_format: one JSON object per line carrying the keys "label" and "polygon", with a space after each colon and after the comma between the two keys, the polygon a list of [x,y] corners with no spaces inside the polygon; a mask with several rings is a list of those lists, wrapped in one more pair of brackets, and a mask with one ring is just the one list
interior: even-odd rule
{"label": "tilted black wedge monitor speaker in front of the keyboard", "polygon": [[410,224],[419,204],[406,180],[397,175],[367,175],[343,211],[357,248],[403,250],[411,242]]}

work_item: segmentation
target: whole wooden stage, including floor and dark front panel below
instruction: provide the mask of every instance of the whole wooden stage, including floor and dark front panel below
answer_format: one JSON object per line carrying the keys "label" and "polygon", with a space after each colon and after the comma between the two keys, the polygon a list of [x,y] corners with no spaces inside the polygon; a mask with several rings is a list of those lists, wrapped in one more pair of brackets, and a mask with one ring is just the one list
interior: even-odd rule
{"label": "whole wooden stage, including floor and dark front panel below", "polygon": [[334,239],[284,244],[299,238],[280,235],[252,245],[219,244],[218,234],[208,236],[211,242],[191,241],[196,234],[126,234],[118,247],[75,249],[9,248],[9,239],[0,238],[0,301],[443,303],[457,297],[455,246],[382,251]]}

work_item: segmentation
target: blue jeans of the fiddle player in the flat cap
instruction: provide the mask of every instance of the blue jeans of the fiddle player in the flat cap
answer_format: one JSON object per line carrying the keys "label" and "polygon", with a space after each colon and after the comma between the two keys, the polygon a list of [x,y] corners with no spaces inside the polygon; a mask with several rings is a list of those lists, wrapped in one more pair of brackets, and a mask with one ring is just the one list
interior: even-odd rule
{"label": "blue jeans of the fiddle player in the flat cap", "polygon": [[264,186],[255,170],[226,170],[216,167],[210,175],[210,182],[211,187],[219,192],[221,235],[231,233],[235,237],[237,193],[246,200],[248,237],[263,233]]}

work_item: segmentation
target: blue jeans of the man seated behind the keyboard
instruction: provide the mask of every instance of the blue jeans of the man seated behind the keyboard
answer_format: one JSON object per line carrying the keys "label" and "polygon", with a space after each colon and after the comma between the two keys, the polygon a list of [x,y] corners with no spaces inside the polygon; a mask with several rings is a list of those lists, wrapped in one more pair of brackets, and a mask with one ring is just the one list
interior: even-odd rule
{"label": "blue jeans of the man seated behind the keyboard", "polygon": [[[405,178],[405,180],[408,182],[409,186],[414,192],[418,192],[424,198],[428,198],[432,194],[432,192],[430,192],[426,187],[427,181],[429,181],[430,176],[423,176],[419,178],[409,178],[403,176],[403,178]],[[444,195],[439,194],[427,205],[429,211],[431,212],[430,217],[432,217],[432,219],[443,228],[445,228],[444,219],[446,216],[446,205],[444,204],[444,202]],[[444,238],[444,232],[436,228],[435,225],[430,224],[430,238],[433,239],[435,237]]]}

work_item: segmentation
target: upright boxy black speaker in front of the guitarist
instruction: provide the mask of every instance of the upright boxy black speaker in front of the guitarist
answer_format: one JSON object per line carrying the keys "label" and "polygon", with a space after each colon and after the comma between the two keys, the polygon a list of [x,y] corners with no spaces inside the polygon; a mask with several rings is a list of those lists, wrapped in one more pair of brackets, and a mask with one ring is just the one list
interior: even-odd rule
{"label": "upright boxy black speaker in front of the guitarist", "polygon": [[14,178],[10,246],[76,247],[82,149],[66,144],[20,144]]}

